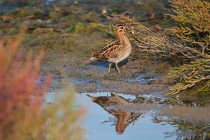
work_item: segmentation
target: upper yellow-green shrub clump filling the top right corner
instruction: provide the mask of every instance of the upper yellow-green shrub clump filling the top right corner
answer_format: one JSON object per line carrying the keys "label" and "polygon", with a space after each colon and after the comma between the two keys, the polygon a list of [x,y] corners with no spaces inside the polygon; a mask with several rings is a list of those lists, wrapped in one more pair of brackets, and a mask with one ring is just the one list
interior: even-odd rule
{"label": "upper yellow-green shrub clump filling the top right corner", "polygon": [[196,45],[201,53],[210,52],[210,3],[205,0],[170,0],[177,26],[171,29],[178,38]]}

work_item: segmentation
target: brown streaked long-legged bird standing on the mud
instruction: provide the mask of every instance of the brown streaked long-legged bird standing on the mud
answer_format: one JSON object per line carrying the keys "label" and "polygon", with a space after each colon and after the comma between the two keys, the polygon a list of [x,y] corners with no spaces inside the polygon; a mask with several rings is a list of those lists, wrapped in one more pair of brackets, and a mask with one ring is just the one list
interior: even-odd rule
{"label": "brown streaked long-legged bird standing on the mud", "polygon": [[126,29],[123,25],[116,27],[116,38],[116,41],[108,44],[90,58],[90,61],[105,60],[110,62],[108,73],[110,73],[112,63],[115,63],[116,70],[120,73],[118,63],[131,54],[131,43],[126,36]]}

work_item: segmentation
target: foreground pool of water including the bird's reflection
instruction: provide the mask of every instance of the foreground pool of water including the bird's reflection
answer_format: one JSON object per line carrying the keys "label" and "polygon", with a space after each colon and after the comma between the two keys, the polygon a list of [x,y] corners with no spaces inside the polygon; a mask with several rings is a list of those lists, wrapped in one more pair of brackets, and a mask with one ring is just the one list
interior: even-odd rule
{"label": "foreground pool of water including the bird's reflection", "polygon": [[[52,93],[48,92],[45,96],[48,103],[54,101]],[[209,138],[209,107],[171,105],[164,97],[148,94],[134,96],[98,92],[78,93],[75,96],[73,106],[87,109],[82,124],[85,140]],[[196,119],[196,112],[203,115]]]}

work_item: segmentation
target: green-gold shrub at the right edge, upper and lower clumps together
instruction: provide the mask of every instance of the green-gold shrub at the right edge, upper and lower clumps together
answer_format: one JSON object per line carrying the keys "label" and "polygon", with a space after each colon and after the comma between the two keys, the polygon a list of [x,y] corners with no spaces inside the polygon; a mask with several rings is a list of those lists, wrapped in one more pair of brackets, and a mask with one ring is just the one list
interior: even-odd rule
{"label": "green-gold shrub at the right edge, upper and lower clumps together", "polygon": [[[172,33],[191,44],[191,50],[199,54],[199,59],[190,64],[173,68],[170,75],[177,77],[169,94],[176,94],[195,85],[203,85],[194,91],[197,93],[210,90],[210,3],[205,0],[170,0],[175,15],[171,15],[177,26]],[[190,47],[190,46],[189,46]],[[188,48],[189,48],[188,47]],[[183,48],[184,49],[184,48]]]}

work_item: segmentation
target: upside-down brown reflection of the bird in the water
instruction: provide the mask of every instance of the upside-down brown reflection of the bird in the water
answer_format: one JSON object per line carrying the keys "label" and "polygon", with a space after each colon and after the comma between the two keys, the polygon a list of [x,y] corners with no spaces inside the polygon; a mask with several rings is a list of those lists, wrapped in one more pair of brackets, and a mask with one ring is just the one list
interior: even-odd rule
{"label": "upside-down brown reflection of the bird in the water", "polygon": [[118,134],[122,134],[129,124],[131,124],[132,122],[134,124],[134,122],[143,114],[123,110],[123,107],[128,106],[130,102],[125,98],[117,96],[115,94],[111,94],[111,96],[99,97],[94,97],[90,95],[87,96],[90,97],[93,102],[100,105],[105,111],[116,118],[114,125],[116,125],[116,132]]}

